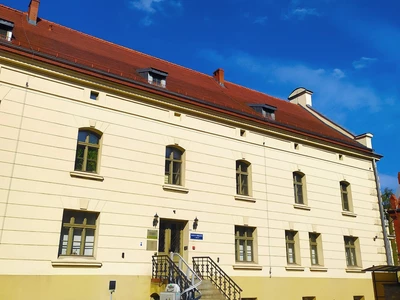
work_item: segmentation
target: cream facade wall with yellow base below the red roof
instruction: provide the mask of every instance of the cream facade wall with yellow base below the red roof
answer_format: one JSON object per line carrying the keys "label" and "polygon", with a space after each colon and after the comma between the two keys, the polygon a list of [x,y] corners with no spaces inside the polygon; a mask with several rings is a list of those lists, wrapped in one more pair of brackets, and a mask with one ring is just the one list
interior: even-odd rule
{"label": "cream facade wall with yellow base below the red roof", "polygon": [[[109,299],[109,280],[114,300],[149,299],[163,288],[146,250],[156,213],[184,221],[184,257],[218,260],[243,298],[373,299],[361,269],[386,257],[371,157],[4,53],[0,100],[0,299]],[[102,133],[98,175],[74,171],[80,128]],[[164,184],[168,145],[185,150],[182,188]],[[241,159],[248,197],[236,195]],[[294,203],[297,171],[306,205]],[[353,213],[342,212],[340,181]],[[65,209],[99,213],[93,257],[59,256]],[[203,240],[190,239],[196,217]],[[255,228],[254,263],[236,262],[235,225]],[[295,265],[285,230],[298,232]],[[358,238],[357,268],[346,266],[344,236]]]}

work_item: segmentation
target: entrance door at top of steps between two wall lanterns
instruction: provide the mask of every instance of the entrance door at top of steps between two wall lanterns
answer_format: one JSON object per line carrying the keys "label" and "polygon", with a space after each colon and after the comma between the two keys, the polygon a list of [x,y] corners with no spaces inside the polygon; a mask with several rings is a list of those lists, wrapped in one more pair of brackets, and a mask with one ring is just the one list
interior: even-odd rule
{"label": "entrance door at top of steps between two wall lanterns", "polygon": [[186,223],[179,220],[160,220],[159,255],[169,255],[170,252],[174,252],[183,256],[183,232]]}

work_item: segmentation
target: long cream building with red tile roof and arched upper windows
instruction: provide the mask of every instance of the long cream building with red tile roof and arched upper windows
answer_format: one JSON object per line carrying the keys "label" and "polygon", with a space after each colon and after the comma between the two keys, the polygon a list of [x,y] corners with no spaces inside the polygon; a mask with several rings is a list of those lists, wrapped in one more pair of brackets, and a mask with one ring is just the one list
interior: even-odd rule
{"label": "long cream building with red tile roof and arched upper windows", "polygon": [[0,299],[149,299],[170,251],[242,299],[372,299],[371,134],[38,10],[0,5]]}

